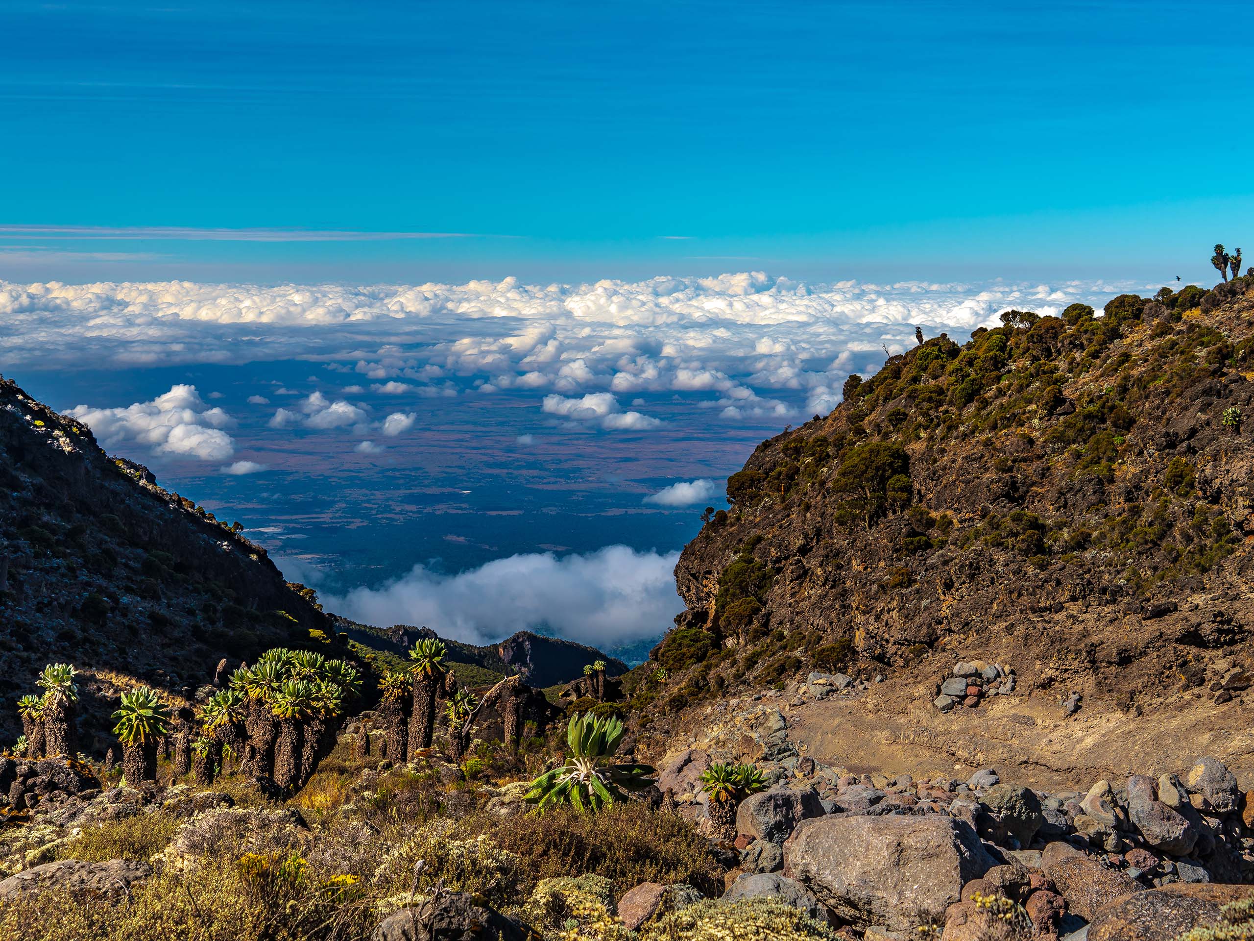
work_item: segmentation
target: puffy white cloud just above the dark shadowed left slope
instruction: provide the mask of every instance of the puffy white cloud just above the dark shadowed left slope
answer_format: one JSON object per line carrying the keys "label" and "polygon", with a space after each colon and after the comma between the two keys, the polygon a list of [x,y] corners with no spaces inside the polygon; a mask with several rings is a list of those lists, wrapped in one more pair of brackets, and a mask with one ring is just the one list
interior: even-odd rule
{"label": "puffy white cloud just above the dark shadowed left slope", "polygon": [[194,385],[173,385],[152,401],[125,408],[75,405],[66,414],[83,422],[105,448],[137,444],[152,454],[224,460],[234,440],[223,432],[233,424],[221,408],[208,408]]}

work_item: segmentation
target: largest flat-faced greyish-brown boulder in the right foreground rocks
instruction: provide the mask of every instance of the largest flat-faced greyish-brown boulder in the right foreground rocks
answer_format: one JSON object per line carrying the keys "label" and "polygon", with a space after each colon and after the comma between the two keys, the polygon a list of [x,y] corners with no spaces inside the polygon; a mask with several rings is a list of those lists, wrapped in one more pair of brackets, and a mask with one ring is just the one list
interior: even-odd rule
{"label": "largest flat-faced greyish-brown boulder in the right foreground rocks", "polygon": [[939,922],[994,859],[951,817],[826,817],[784,844],[784,875],[806,886],[843,921],[913,932]]}

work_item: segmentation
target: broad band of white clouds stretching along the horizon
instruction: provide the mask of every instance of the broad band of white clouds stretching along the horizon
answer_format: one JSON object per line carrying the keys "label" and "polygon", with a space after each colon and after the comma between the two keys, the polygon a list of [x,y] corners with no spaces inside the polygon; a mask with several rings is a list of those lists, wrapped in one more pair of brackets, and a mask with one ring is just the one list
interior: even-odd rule
{"label": "broad band of white clouds stretching along the horizon", "polygon": [[[209,285],[0,281],[0,369],[321,361],[398,398],[534,393],[554,420],[647,430],[632,396],[698,396],[724,419],[825,412],[844,378],[1009,307],[1099,305],[1140,284],[808,285],[762,272],[582,285]],[[351,394],[351,393],[350,393]],[[312,405],[314,403],[306,403]],[[347,401],[280,424],[357,424]],[[403,413],[404,414],[404,413]],[[386,432],[385,432],[386,434]]]}

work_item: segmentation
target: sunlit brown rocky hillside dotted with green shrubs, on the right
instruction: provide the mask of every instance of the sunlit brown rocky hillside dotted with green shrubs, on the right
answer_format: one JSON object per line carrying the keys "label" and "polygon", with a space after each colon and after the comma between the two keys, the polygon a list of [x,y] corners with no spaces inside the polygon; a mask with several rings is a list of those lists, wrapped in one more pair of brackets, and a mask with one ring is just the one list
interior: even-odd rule
{"label": "sunlit brown rocky hillside dotted with green shrubs, on the right", "polygon": [[663,701],[823,667],[900,680],[904,709],[949,651],[1112,709],[1214,695],[1254,625],[1251,287],[1012,311],[851,379],[681,555]]}

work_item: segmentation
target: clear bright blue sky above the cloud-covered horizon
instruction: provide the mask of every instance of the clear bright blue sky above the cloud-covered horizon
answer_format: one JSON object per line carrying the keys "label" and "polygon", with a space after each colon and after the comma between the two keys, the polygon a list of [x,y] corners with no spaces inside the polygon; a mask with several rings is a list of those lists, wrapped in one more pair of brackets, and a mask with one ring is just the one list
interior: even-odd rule
{"label": "clear bright blue sky above the cloud-covered horizon", "polygon": [[0,34],[10,281],[1165,281],[1254,210],[1246,4],[8,1]]}

